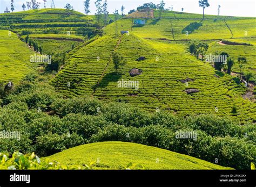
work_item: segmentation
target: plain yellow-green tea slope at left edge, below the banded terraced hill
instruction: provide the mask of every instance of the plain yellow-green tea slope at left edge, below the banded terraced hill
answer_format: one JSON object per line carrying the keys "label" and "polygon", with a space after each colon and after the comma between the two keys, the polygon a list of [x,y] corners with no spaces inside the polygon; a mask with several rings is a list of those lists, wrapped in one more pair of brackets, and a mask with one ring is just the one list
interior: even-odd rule
{"label": "plain yellow-green tea slope at left edge, below the banded terraced hill", "polygon": [[37,67],[36,63],[30,62],[30,56],[34,54],[17,34],[0,30],[0,82],[18,83]]}

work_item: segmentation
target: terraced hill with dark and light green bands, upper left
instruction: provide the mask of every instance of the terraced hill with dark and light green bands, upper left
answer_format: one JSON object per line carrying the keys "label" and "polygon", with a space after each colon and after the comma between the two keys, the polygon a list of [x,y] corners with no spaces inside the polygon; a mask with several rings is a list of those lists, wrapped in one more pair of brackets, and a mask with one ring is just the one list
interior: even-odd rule
{"label": "terraced hill with dark and light green bands, upper left", "polygon": [[93,33],[96,26],[93,18],[65,9],[0,14],[0,28],[16,32],[24,40],[29,35],[43,48],[44,54],[71,51],[86,40],[84,36]]}

